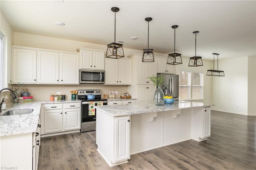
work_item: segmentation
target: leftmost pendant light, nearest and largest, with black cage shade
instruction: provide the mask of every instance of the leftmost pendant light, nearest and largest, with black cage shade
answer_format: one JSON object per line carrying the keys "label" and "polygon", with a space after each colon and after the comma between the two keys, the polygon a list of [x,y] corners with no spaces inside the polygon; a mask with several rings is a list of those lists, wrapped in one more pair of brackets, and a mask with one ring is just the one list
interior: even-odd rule
{"label": "leftmost pendant light, nearest and largest, with black cage shade", "polygon": [[119,11],[119,8],[112,7],[111,10],[115,13],[115,36],[114,36],[115,41],[108,44],[106,58],[118,59],[118,58],[124,57],[123,44],[116,43],[116,12]]}

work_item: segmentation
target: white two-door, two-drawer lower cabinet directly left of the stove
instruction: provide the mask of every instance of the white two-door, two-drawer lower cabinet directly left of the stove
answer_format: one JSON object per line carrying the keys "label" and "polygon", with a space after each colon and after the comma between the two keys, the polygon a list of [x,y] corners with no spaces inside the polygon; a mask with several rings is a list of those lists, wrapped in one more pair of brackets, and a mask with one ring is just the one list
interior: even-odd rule
{"label": "white two-door, two-drawer lower cabinet directly left of the stove", "polygon": [[41,111],[42,134],[79,130],[81,103],[45,104]]}

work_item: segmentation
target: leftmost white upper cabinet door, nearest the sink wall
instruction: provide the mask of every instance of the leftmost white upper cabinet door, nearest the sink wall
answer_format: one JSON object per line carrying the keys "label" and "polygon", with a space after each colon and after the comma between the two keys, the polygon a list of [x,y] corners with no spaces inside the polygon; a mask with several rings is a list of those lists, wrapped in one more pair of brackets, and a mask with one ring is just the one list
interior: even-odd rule
{"label": "leftmost white upper cabinet door, nearest the sink wall", "polygon": [[13,83],[36,83],[36,50],[12,48]]}

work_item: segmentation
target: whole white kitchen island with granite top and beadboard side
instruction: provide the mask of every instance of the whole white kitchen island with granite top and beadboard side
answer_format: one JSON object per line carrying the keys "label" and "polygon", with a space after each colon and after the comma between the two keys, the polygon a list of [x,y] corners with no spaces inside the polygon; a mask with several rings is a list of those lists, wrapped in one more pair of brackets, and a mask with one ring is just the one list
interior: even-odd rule
{"label": "whole white kitchen island with granite top and beadboard side", "polygon": [[131,154],[210,136],[210,105],[175,101],[96,106],[96,144],[109,166],[128,162]]}

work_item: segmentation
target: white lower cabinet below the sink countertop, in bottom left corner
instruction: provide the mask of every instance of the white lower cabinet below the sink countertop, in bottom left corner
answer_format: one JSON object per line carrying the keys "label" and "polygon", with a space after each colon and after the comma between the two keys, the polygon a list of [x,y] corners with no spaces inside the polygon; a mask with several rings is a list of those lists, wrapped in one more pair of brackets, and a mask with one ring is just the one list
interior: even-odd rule
{"label": "white lower cabinet below the sink countertop, in bottom left corner", "polygon": [[[37,170],[40,148],[40,119],[34,133],[1,136],[1,167]],[[5,153],[4,155],[2,153]]]}

